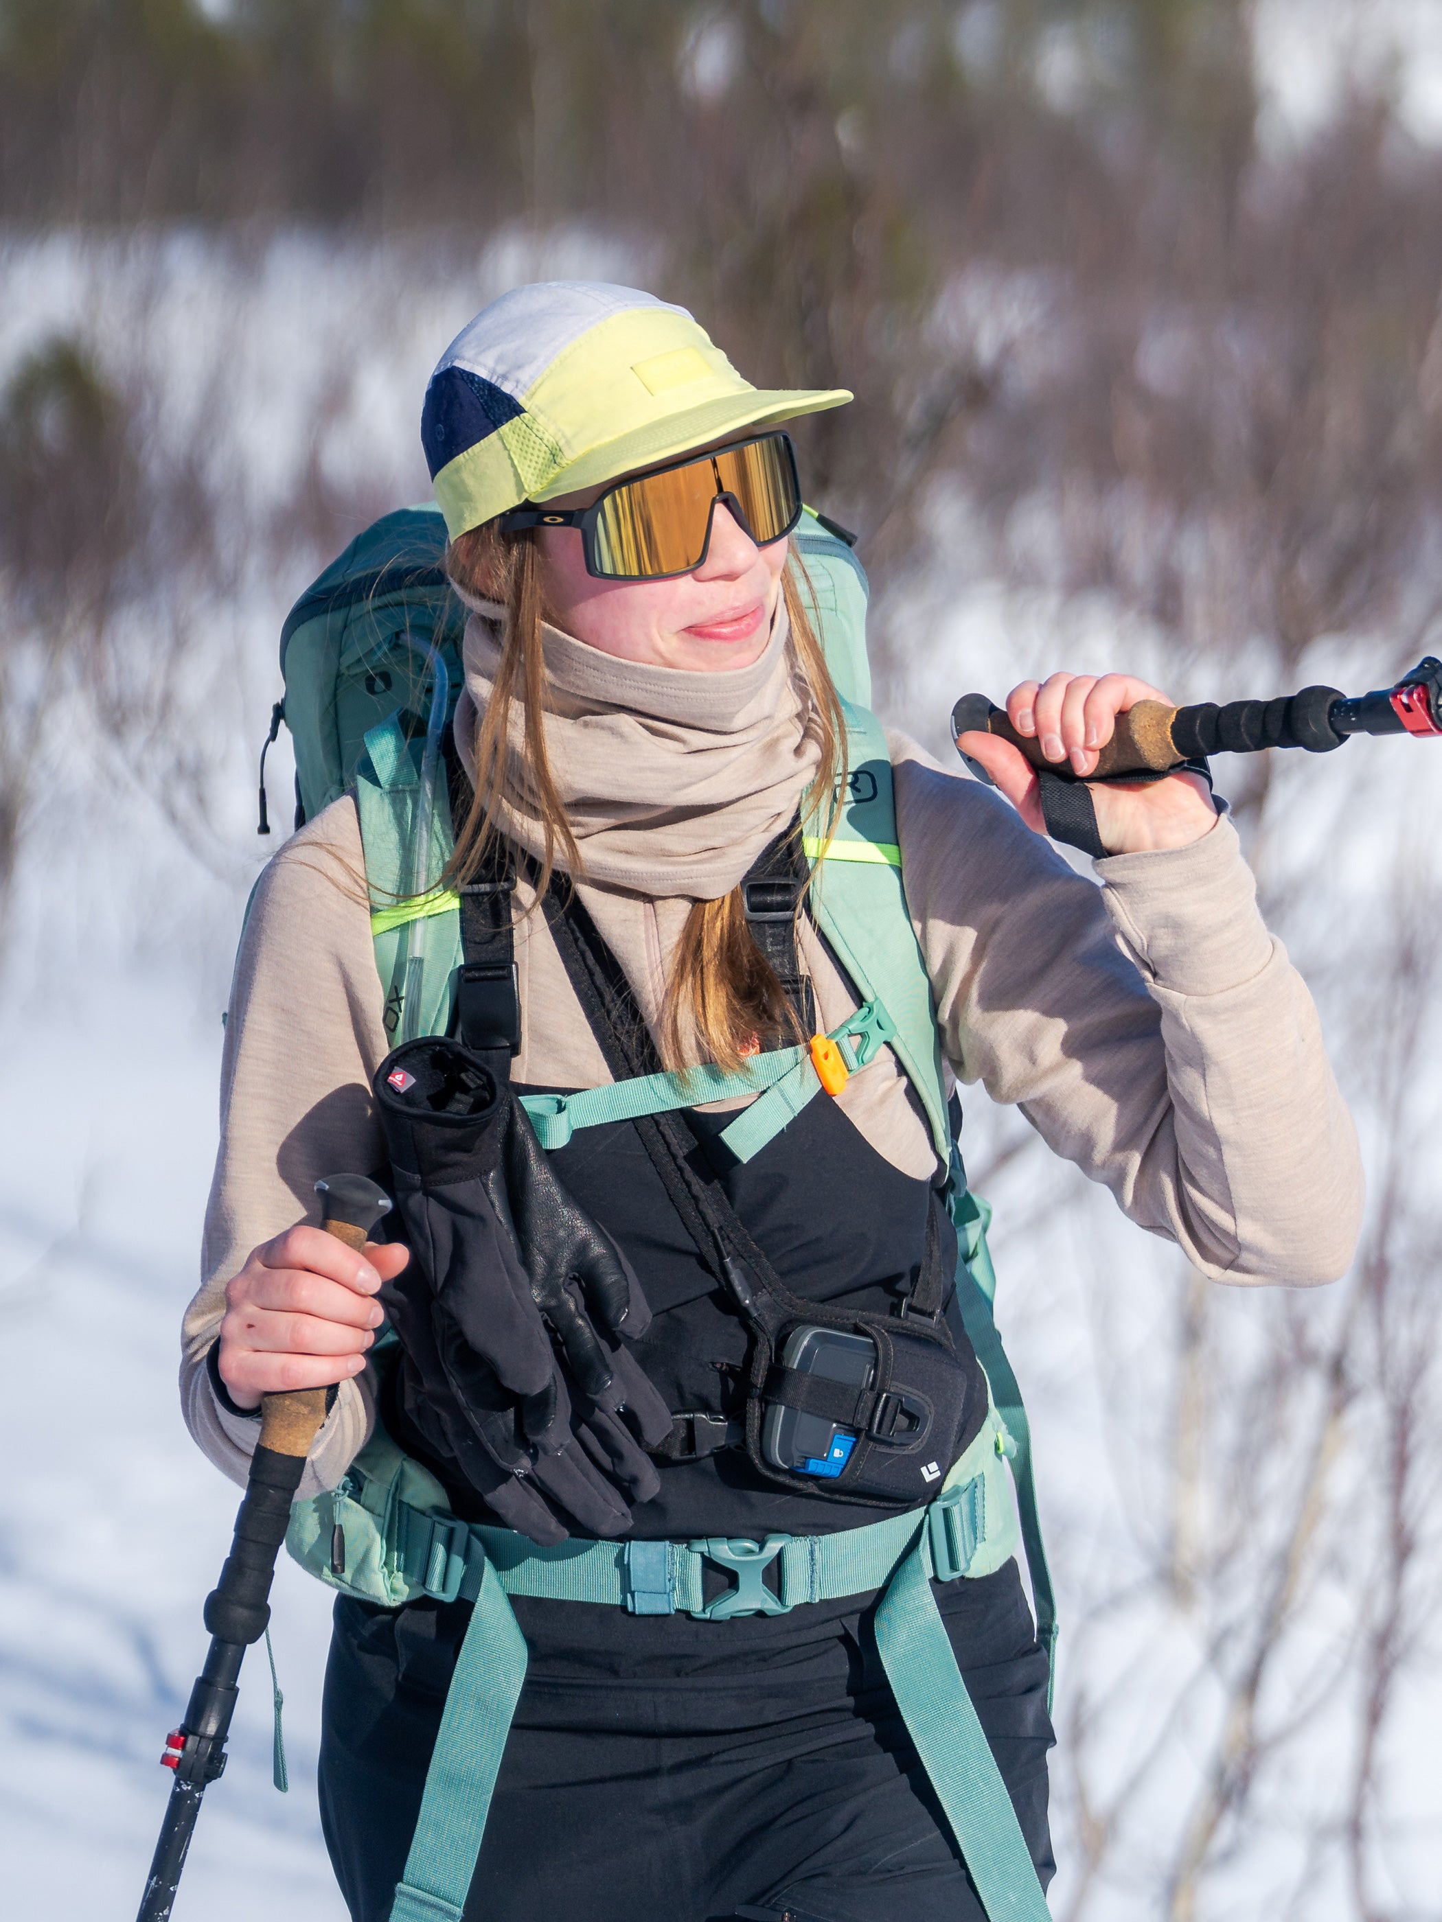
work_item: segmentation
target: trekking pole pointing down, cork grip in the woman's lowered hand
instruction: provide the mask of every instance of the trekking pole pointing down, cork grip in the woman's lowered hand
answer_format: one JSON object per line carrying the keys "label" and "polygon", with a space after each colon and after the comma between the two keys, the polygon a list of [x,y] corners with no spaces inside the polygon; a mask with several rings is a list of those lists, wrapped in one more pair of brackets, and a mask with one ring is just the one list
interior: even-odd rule
{"label": "trekking pole pointing down, cork grip in the woman's lowered hand", "polygon": [[[360,1174],[329,1174],[315,1182],[315,1192],[321,1195],[321,1226],[358,1251],[390,1209],[390,1197]],[[200,1797],[225,1768],[236,1676],[246,1649],[260,1641],[271,1618],[275,1557],[285,1541],[306,1457],[325,1420],[325,1390],[296,1388],[285,1395],[265,1395],[260,1411],[260,1443],[250,1459],[231,1553],[206,1597],[210,1655],[190,1689],[185,1720],[165,1739],[162,1755],[162,1764],[175,1770],[175,1786],[137,1922],[167,1922],[200,1814]]]}

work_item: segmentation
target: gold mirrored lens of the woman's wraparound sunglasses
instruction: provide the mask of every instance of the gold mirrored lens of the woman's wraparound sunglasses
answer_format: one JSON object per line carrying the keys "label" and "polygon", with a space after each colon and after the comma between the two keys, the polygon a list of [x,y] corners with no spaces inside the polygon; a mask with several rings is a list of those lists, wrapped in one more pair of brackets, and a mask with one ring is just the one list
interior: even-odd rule
{"label": "gold mirrored lens of the woman's wraparound sunglasses", "polygon": [[786,436],[765,434],[613,488],[598,504],[594,569],[617,580],[690,573],[706,554],[717,494],[736,498],[759,546],[790,532],[802,496]]}

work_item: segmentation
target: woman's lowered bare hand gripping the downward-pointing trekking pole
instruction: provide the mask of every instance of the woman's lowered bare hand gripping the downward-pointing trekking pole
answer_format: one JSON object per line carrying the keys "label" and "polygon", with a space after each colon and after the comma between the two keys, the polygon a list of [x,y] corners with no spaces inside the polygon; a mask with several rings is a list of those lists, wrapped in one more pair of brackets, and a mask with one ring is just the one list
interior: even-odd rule
{"label": "woman's lowered bare hand gripping the downward-pointing trekking pole", "polygon": [[400,1242],[363,1253],[323,1228],[288,1228],[252,1249],[227,1284],[219,1374],[238,1409],[290,1388],[329,1388],[365,1367],[385,1320],[375,1292],[410,1261]]}

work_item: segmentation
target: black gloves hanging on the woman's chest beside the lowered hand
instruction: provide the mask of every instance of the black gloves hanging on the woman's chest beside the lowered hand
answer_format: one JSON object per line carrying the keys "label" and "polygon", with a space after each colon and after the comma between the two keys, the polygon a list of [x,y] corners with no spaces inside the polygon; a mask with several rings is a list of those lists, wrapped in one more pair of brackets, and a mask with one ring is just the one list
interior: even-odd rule
{"label": "black gloves hanging on the woman's chest beside the lowered hand", "polygon": [[375,1094],[415,1257],[381,1290],[406,1353],[408,1417],[533,1540],[565,1538],[558,1509],[588,1534],[623,1534],[659,1478],[621,1411],[642,1442],[671,1432],[617,1340],[650,1322],[629,1263],[461,1044],[408,1042]]}

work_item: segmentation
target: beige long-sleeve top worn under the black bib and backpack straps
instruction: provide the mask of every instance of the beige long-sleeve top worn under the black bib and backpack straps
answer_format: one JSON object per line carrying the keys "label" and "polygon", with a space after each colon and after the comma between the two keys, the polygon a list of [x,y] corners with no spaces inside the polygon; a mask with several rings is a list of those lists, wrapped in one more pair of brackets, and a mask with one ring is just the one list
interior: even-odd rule
{"label": "beige long-sleeve top worn under the black bib and backpack straps", "polygon": [[[1017,1103],[1204,1274],[1340,1276],[1361,1222],[1355,1130],[1232,825],[1219,821],[1192,848],[1098,861],[1098,888],[986,788],[904,736],[892,736],[892,757],[907,901],[957,1080]],[[369,1082],[390,1038],[360,876],[356,809],[342,800],[265,869],[236,959],[204,1282],[181,1368],[190,1432],[235,1480],[258,1424],[221,1409],[206,1372],[225,1284],[252,1247],[317,1219],[319,1174],[385,1163]],[[690,901],[592,886],[581,896],[656,1021]],[[821,1026],[834,1028],[856,1001],[819,944],[804,949]],[[608,1080],[538,915],[517,926],[517,1080]],[[925,1122],[890,1051],[840,1103],[896,1167],[931,1170]],[[342,1384],[302,1493],[340,1478],[373,1411],[369,1370]]]}

